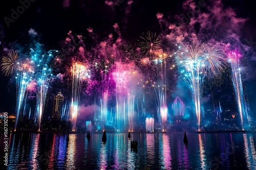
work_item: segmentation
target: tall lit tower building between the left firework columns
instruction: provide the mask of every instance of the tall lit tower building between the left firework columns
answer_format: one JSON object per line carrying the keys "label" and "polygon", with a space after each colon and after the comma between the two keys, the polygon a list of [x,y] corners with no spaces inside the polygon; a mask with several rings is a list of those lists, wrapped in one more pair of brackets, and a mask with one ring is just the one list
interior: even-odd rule
{"label": "tall lit tower building between the left firework columns", "polygon": [[63,101],[64,101],[63,94],[61,92],[58,92],[58,94],[54,96],[52,101],[52,118],[53,119],[60,119],[62,109],[63,109]]}

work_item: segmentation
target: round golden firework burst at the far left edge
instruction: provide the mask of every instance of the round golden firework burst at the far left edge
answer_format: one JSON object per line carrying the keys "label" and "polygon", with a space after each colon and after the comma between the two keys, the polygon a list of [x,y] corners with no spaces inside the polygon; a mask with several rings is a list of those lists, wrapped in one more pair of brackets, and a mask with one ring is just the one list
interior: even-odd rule
{"label": "round golden firework burst at the far left edge", "polygon": [[2,71],[5,76],[9,76],[18,67],[18,54],[15,51],[9,52],[8,57],[4,56],[2,59]]}

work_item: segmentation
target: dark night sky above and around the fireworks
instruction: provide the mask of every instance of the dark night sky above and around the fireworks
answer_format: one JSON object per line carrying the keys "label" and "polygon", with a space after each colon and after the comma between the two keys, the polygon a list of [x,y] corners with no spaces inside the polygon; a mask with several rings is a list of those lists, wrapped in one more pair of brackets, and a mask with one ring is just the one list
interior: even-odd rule
{"label": "dark night sky above and around the fireworks", "polygon": [[[168,21],[171,23],[183,23],[184,20],[177,20],[177,15],[184,15],[187,13],[182,7],[182,4],[190,4],[199,1],[145,1],[134,0],[131,5],[127,5],[126,0],[113,0],[113,1],[41,1],[34,0],[30,2],[30,5],[24,12],[19,14],[19,17],[13,20],[13,22],[6,23],[5,17],[11,18],[12,9],[17,11],[17,7],[21,5],[23,1],[2,1],[0,5],[0,52],[1,57],[6,55],[6,48],[11,49],[11,45],[14,42],[20,44],[26,44],[28,38],[28,31],[33,29],[37,33],[37,37],[40,39],[40,43],[45,44],[47,49],[60,49],[60,41],[65,40],[67,33],[72,31],[73,34],[88,36],[88,28],[92,28],[93,32],[98,35],[98,41],[108,37],[110,33],[113,33],[113,26],[118,23],[121,31],[122,38],[134,42],[138,37],[147,31],[158,33],[160,36],[168,35],[165,32],[166,28],[163,28],[163,23]],[[27,2],[27,1],[26,1]],[[202,1],[201,1],[202,2]],[[248,101],[250,104],[251,112],[256,111],[256,98],[254,94],[256,86],[256,72],[254,70],[256,66],[255,46],[256,46],[256,11],[253,1],[205,1],[206,6],[199,10],[199,13],[203,13],[211,8],[215,3],[222,3],[223,10],[233,9],[235,12],[234,18],[244,18],[243,25],[240,28],[230,28],[236,30],[236,34],[239,36],[239,40],[242,44],[247,45],[248,49],[244,58],[244,79],[246,92],[248,95]],[[112,4],[112,5],[108,5]],[[221,5],[221,6],[222,6]],[[185,12],[184,12],[185,11]],[[188,10],[189,11],[189,10]],[[215,11],[216,13],[222,13]],[[165,21],[159,23],[157,13],[162,13]],[[223,16],[225,17],[225,16]],[[216,21],[218,22],[218,21]],[[223,29],[228,29],[223,23]],[[221,26],[221,25],[220,25]],[[234,25],[237,26],[237,25]],[[230,25],[232,27],[232,25]],[[196,28],[195,28],[196,29]],[[218,35],[218,28],[212,27],[207,36]],[[207,37],[205,35],[205,37]],[[220,36],[221,32],[220,32]],[[217,36],[216,36],[217,37]],[[209,38],[209,37],[208,37]],[[215,38],[215,37],[212,37]],[[220,37],[218,37],[220,39]],[[225,37],[223,37],[225,38]],[[227,39],[228,41],[228,39]],[[88,44],[85,40],[85,44]],[[231,44],[235,44],[233,40],[230,40]],[[2,72],[0,74],[1,88],[0,88],[0,112],[15,112],[15,83],[9,82],[11,76],[6,77]],[[216,98],[227,99],[230,98],[234,103],[232,95],[232,85],[228,80],[224,80],[224,83],[220,87],[213,88],[218,91],[229,91],[227,93],[217,94]],[[176,94],[179,94],[180,89],[175,89],[172,98],[175,98]],[[181,89],[183,91],[184,89]],[[219,95],[219,96],[218,96]],[[187,95],[188,98],[190,95]],[[183,96],[184,97],[184,96]],[[189,99],[190,100],[190,99]],[[187,101],[189,101],[187,100]],[[186,99],[184,99],[186,102]],[[210,102],[211,103],[211,102]],[[225,104],[224,104],[225,107]],[[226,106],[230,107],[230,106]],[[254,116],[255,117],[255,114]]]}

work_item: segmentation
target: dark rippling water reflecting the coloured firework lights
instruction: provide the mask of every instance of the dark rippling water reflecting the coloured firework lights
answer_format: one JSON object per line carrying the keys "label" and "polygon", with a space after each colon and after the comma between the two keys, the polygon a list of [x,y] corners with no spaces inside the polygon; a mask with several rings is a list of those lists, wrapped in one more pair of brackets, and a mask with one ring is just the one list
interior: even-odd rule
{"label": "dark rippling water reflecting the coloured firework lights", "polygon": [[[256,169],[255,133],[11,134],[8,169]],[[1,167],[4,135],[1,134]]]}

